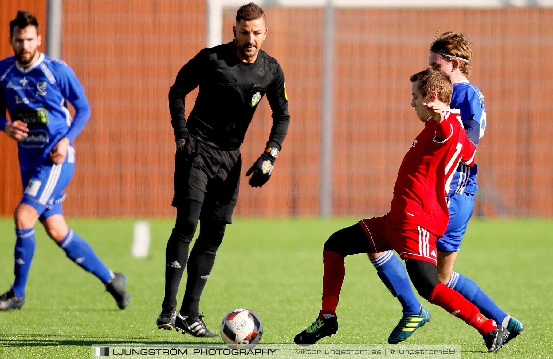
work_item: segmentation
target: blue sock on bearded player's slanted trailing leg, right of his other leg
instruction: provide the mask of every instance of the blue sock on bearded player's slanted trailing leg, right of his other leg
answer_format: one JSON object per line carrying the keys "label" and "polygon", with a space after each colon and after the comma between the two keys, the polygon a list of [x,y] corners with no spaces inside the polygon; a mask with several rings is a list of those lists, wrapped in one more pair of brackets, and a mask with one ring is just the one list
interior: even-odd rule
{"label": "blue sock on bearded player's slanted trailing leg, right of his other leg", "polygon": [[83,269],[96,275],[103,284],[107,284],[113,278],[113,272],[109,270],[100,258],[94,253],[90,244],[83,240],[71,229],[67,236],[58,243],[71,261],[79,264]]}

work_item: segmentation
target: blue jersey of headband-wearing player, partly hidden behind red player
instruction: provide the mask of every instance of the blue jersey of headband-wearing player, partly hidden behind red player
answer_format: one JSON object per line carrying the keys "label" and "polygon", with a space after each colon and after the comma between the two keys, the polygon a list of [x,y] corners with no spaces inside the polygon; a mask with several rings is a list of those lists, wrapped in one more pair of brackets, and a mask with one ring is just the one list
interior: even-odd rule
{"label": "blue jersey of headband-wearing player, partly hidden behind red player", "polygon": [[[461,119],[467,132],[467,137],[478,146],[479,139],[486,131],[486,108],[484,107],[484,96],[478,87],[469,84],[468,81],[453,84],[453,95],[451,96],[451,108],[461,110]],[[468,193],[476,194],[478,184],[476,174],[478,167],[465,167],[459,165],[453,179],[448,196]]]}

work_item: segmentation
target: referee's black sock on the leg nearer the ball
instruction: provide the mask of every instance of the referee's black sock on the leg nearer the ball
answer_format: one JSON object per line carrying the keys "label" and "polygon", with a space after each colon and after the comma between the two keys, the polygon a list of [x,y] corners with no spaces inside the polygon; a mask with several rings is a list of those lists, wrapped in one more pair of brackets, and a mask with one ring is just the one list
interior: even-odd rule
{"label": "referee's black sock on the leg nearer the ball", "polygon": [[226,223],[222,221],[202,221],[200,236],[197,238],[188,262],[188,279],[180,314],[197,318],[200,314],[200,297],[211,274],[215,254],[223,241]]}

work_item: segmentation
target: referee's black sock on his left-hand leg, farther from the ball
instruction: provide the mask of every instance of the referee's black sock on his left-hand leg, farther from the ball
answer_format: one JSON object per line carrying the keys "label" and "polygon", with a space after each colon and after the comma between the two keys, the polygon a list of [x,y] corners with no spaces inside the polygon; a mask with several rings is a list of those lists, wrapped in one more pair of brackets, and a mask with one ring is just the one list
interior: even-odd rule
{"label": "referee's black sock on his left-hand leg, farther from the ball", "polygon": [[201,206],[200,202],[189,201],[186,206],[177,209],[175,228],[165,249],[165,297],[161,304],[163,307],[171,305],[176,308],[176,294],[186,267],[189,245],[196,232]]}

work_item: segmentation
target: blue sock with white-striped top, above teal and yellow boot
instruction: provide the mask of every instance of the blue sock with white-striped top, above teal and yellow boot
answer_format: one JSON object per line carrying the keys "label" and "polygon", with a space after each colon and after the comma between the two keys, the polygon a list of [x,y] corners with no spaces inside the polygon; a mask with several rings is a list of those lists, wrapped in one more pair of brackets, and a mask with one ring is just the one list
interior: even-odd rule
{"label": "blue sock with white-striped top, above teal and yellow boot", "polygon": [[387,251],[382,256],[372,259],[371,263],[377,269],[380,280],[394,296],[398,297],[403,306],[403,313],[418,315],[422,305],[416,299],[407,271],[400,259],[392,251]]}

